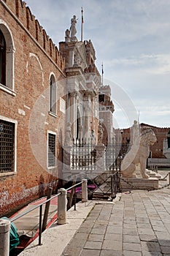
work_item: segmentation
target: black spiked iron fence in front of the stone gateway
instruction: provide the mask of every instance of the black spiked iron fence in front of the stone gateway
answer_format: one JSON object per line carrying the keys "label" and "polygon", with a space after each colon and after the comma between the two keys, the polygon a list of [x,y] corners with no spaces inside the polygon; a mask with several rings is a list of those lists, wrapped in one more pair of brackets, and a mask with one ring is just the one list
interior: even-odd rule
{"label": "black spiked iron fence in front of the stone gateway", "polygon": [[[104,171],[120,170],[120,165],[128,151],[129,144],[107,144],[104,148],[104,154],[101,158],[104,161]],[[98,165],[98,148],[95,141],[74,140],[71,152],[71,170],[96,170]]]}

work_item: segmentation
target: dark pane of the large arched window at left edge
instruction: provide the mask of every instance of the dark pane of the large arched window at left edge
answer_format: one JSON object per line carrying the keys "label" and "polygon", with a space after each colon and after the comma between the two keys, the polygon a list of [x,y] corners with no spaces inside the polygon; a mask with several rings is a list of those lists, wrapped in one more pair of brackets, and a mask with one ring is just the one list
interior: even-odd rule
{"label": "dark pane of the large arched window at left edge", "polygon": [[0,29],[0,83],[6,85],[6,42]]}

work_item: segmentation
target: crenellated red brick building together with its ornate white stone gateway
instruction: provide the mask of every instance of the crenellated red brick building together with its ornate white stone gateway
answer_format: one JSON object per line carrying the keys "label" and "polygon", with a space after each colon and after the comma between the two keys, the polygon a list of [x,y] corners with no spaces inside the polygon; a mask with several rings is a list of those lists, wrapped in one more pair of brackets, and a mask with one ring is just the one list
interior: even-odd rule
{"label": "crenellated red brick building together with its ornate white stone gateway", "polygon": [[0,1],[0,216],[58,186],[66,127],[98,137],[101,77],[92,42],[59,49],[21,0]]}

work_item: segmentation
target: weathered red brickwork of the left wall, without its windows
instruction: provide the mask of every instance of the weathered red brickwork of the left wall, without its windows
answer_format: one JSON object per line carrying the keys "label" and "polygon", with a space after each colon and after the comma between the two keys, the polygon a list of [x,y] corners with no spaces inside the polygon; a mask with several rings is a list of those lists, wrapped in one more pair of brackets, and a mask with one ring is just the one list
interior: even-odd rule
{"label": "weathered red brickwork of the left wall, without its windows", "polygon": [[[18,122],[17,171],[11,176],[0,176],[0,216],[2,216],[30,200],[45,195],[50,185],[53,185],[54,189],[57,186],[58,172],[61,171],[61,144],[65,133],[65,115],[60,111],[59,99],[66,95],[66,85],[64,83],[61,85],[58,80],[63,80],[66,75],[63,56],[24,2],[1,1],[0,13],[0,19],[7,24],[15,45],[15,94],[0,89],[0,116]],[[56,116],[49,113],[49,83],[52,73],[58,86]],[[35,157],[29,138],[29,124],[37,101],[42,102],[42,105],[36,110],[35,127],[31,129],[35,129],[36,133],[44,132],[46,143],[44,145],[40,143],[39,148],[39,152],[43,153],[40,157],[45,158],[44,166],[40,165],[39,159]],[[39,123],[37,123],[38,119]],[[51,174],[45,170],[47,130],[55,132],[57,137],[57,167],[55,173]],[[39,143],[39,138],[36,136],[34,143]]]}

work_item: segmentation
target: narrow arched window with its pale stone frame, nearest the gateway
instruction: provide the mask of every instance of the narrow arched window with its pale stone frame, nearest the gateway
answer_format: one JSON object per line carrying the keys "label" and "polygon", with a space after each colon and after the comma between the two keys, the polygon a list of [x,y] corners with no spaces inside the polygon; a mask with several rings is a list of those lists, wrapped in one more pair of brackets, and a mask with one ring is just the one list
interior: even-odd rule
{"label": "narrow arched window with its pale stone frame, nearest the gateway", "polygon": [[49,113],[52,116],[57,117],[57,82],[55,78],[55,74],[53,72],[50,73],[49,79]]}

